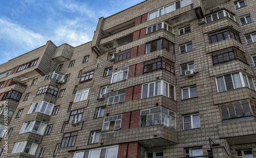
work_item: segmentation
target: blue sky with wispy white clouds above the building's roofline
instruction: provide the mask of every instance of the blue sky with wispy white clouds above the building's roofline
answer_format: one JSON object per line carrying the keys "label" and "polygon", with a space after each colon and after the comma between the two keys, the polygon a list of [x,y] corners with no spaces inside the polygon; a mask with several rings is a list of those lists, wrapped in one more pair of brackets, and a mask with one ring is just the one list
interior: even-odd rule
{"label": "blue sky with wispy white clouds above the building's roofline", "polygon": [[98,18],[142,0],[3,0],[0,4],[0,64],[51,40],[72,46],[89,42]]}

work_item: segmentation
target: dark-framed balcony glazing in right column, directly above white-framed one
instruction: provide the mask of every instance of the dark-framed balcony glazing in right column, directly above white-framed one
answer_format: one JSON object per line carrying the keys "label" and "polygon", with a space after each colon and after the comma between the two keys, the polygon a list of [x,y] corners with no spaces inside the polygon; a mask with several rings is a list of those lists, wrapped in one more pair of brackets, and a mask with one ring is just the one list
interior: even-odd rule
{"label": "dark-framed balcony glazing in right column, directly above white-framed one", "polygon": [[211,54],[213,65],[232,61],[238,59],[242,62],[247,63],[244,52],[238,50],[237,48],[228,48],[217,52],[212,52]]}

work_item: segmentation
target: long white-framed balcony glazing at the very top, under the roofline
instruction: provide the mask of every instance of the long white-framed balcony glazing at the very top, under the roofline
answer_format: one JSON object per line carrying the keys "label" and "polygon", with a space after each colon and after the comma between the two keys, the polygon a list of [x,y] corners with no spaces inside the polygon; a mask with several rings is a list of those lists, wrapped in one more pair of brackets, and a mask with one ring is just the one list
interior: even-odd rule
{"label": "long white-framed balcony glazing at the very top, under the roofline", "polygon": [[181,0],[181,1],[177,1],[173,4],[170,4],[168,6],[165,6],[163,8],[159,8],[158,10],[151,12],[148,14],[148,20],[152,20],[154,18],[157,18],[163,14],[167,14],[169,12],[173,12],[176,9],[188,6],[190,4],[193,4],[193,0]]}

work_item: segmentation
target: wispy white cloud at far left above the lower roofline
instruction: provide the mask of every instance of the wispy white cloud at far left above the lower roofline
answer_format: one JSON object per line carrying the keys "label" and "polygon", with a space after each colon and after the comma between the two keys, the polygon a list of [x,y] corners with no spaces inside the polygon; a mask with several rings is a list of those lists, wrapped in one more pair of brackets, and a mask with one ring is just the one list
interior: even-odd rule
{"label": "wispy white cloud at far left above the lower roofline", "polygon": [[19,24],[12,23],[7,18],[0,18],[0,39],[15,43],[23,48],[36,48],[45,44],[46,39],[38,33],[24,28]]}

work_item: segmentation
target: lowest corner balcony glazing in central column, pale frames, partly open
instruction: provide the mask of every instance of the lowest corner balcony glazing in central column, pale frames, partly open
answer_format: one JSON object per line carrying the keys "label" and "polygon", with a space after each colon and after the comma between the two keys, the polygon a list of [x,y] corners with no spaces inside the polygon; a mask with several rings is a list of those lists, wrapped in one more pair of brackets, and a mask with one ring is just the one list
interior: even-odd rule
{"label": "lowest corner balcony glazing in central column, pale frames, partly open", "polygon": [[140,112],[140,127],[158,124],[176,129],[176,113],[162,107],[146,109]]}

